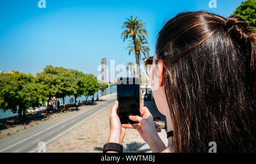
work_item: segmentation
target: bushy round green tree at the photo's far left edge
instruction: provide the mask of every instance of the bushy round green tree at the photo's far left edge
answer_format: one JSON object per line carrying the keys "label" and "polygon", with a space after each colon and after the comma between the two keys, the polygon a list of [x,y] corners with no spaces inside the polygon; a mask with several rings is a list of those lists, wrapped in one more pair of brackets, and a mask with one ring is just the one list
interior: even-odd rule
{"label": "bushy round green tree at the photo's far left edge", "polygon": [[13,71],[0,73],[0,107],[10,109],[13,113],[18,110],[19,118],[26,119],[26,110],[37,107],[46,101],[43,85],[36,83],[32,74]]}

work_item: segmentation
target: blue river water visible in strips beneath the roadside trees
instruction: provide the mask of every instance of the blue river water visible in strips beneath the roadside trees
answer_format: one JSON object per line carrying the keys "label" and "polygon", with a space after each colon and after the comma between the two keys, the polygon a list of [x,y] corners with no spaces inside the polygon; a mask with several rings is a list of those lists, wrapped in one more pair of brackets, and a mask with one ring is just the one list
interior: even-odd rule
{"label": "blue river water visible in strips beneath the roadside trees", "polygon": [[[112,94],[117,92],[117,85],[110,85],[109,88],[107,88],[106,90],[104,90],[104,92],[98,91],[98,95],[101,94],[101,96],[107,95],[107,94]],[[94,98],[97,98],[97,93],[94,94]],[[65,100],[65,104],[69,104],[69,103],[73,103],[75,101],[75,98],[73,96],[66,96],[64,97]],[[85,101],[86,97],[85,96],[81,96],[79,98],[77,98],[77,101]],[[92,96],[88,97],[88,100],[92,100]],[[60,98],[61,104],[63,104],[63,99]],[[0,109],[0,119],[2,118],[7,118],[10,116],[15,116],[18,115],[18,113],[12,113],[10,110],[7,110],[5,112],[3,112],[3,110]]]}

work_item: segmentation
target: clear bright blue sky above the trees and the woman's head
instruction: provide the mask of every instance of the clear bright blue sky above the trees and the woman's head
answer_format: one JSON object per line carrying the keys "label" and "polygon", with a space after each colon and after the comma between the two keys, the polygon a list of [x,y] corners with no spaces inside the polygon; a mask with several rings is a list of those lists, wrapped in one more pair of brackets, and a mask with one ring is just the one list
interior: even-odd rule
{"label": "clear bright blue sky above the trees and the woman's head", "polygon": [[121,39],[122,24],[131,15],[146,22],[150,54],[164,22],[183,11],[208,11],[231,15],[242,0],[190,1],[0,1],[0,71],[43,71],[47,65],[63,66],[98,75],[101,58],[115,64],[135,63],[128,42]]}

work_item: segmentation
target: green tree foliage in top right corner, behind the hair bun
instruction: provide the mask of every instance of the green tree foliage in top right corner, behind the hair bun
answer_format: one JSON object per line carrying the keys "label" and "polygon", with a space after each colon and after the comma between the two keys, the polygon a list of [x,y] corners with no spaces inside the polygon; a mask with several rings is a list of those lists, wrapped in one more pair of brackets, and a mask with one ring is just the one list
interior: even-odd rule
{"label": "green tree foliage in top right corner, behind the hair bun", "polygon": [[245,19],[249,24],[251,29],[253,29],[254,32],[256,32],[256,1],[255,0],[246,0],[241,3],[240,6],[236,8],[236,11],[234,12],[234,16],[240,16],[242,19]]}

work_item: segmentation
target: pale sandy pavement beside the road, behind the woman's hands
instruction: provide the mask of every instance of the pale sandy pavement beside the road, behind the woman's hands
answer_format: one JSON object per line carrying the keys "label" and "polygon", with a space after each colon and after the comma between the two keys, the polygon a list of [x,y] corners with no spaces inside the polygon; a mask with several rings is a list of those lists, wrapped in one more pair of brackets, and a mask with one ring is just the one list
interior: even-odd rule
{"label": "pale sandy pavement beside the road, behind the woman's hands", "polygon": [[[152,112],[154,102],[146,102]],[[102,147],[109,137],[109,115],[112,105],[104,107],[84,122],[64,133],[62,136],[46,145],[46,152],[102,152]],[[166,131],[162,130],[159,136],[166,139]],[[165,143],[165,142],[164,142]],[[123,140],[123,152],[151,152],[137,130],[127,129]]]}

